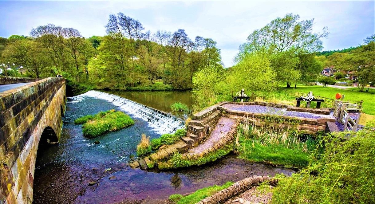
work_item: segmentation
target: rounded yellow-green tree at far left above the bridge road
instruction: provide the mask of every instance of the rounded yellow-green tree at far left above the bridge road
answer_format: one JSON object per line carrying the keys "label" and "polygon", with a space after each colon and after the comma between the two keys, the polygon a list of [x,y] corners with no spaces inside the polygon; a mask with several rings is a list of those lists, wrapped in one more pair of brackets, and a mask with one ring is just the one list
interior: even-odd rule
{"label": "rounded yellow-green tree at far left above the bridge road", "polygon": [[49,66],[43,48],[34,40],[16,40],[6,46],[4,57],[17,65],[23,65],[34,77],[39,78]]}

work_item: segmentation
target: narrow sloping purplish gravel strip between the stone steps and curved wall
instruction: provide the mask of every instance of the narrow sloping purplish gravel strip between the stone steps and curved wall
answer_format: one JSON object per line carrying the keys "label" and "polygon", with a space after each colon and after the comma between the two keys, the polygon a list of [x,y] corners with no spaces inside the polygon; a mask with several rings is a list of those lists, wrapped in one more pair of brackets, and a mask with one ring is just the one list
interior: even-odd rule
{"label": "narrow sloping purplish gravel strip between the stone steps and curved wall", "polygon": [[236,122],[231,118],[227,117],[220,117],[217,121],[216,126],[211,131],[208,139],[206,139],[202,144],[199,144],[198,147],[194,147],[189,151],[193,151],[195,153],[201,153],[205,149],[208,149],[214,145],[216,141],[221,139],[223,136],[226,135],[227,132],[231,129],[232,125]]}

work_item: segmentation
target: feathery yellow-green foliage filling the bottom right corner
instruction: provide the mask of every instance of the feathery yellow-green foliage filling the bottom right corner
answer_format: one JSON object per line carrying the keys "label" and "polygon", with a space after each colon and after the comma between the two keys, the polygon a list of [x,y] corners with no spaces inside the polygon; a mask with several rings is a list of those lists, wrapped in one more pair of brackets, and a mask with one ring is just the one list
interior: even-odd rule
{"label": "feathery yellow-green foliage filling the bottom right corner", "polygon": [[272,202],[374,203],[374,131],[338,132],[322,144],[317,162],[292,177],[279,176]]}

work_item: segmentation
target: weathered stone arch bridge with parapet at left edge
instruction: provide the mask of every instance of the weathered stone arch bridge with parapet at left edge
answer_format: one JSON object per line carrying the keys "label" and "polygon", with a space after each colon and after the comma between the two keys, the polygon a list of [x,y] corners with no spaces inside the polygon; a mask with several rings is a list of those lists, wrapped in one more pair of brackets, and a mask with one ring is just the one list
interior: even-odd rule
{"label": "weathered stone arch bridge with parapet at left edge", "polygon": [[0,204],[32,203],[38,147],[60,139],[65,79],[31,81],[0,93]]}

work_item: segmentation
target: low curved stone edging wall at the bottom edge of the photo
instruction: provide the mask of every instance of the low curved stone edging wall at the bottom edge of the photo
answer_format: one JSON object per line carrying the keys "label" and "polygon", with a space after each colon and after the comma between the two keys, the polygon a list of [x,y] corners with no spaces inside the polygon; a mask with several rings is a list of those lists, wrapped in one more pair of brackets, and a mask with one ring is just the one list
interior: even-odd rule
{"label": "low curved stone edging wall at the bottom edge of the photo", "polygon": [[246,190],[251,189],[253,186],[257,186],[258,184],[264,181],[269,181],[269,184],[271,186],[275,186],[278,183],[278,180],[275,177],[253,175],[251,177],[237,181],[236,183],[227,187],[226,189],[220,190],[215,194],[202,199],[196,204],[216,204],[225,202],[229,198],[232,198],[235,195],[243,193]]}

